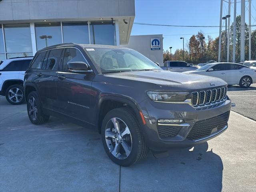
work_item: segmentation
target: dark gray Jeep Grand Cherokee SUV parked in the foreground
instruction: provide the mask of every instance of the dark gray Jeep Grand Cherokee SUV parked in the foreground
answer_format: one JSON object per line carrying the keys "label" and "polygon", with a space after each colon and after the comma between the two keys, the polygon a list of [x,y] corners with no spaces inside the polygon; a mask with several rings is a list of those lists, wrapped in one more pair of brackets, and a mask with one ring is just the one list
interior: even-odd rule
{"label": "dark gray Jeep Grand Cherokee SUV parked in the foreground", "polygon": [[231,101],[219,78],[164,71],[128,48],[60,44],[38,51],[24,77],[33,124],[64,116],[102,135],[122,166],[152,151],[191,147],[228,127]]}

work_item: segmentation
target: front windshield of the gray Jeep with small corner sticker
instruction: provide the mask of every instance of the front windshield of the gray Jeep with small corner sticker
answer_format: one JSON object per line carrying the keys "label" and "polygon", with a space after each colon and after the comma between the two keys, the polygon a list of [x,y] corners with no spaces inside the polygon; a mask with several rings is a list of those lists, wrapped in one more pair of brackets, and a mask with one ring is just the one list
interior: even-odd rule
{"label": "front windshield of the gray Jeep with small corner sticker", "polygon": [[85,48],[98,71],[102,74],[162,70],[137,51],[122,48]]}

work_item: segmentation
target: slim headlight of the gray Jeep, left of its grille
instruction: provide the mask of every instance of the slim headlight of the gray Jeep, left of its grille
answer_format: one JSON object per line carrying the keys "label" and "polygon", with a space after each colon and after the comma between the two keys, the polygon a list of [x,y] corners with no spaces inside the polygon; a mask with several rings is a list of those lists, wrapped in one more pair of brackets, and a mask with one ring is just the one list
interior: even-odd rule
{"label": "slim headlight of the gray Jeep, left of its grille", "polygon": [[183,102],[190,93],[189,92],[154,92],[148,91],[148,97],[153,101],[160,102]]}

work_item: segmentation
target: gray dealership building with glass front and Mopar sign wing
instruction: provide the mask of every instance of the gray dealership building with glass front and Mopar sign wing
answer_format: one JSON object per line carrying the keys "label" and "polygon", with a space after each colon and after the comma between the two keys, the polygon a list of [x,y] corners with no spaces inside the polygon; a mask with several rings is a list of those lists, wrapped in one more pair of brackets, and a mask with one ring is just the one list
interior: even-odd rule
{"label": "gray dealership building with glass front and Mopar sign wing", "polygon": [[[134,18],[134,0],[1,0],[0,60],[68,42],[129,47]],[[130,48],[162,64],[162,39],[147,38]]]}

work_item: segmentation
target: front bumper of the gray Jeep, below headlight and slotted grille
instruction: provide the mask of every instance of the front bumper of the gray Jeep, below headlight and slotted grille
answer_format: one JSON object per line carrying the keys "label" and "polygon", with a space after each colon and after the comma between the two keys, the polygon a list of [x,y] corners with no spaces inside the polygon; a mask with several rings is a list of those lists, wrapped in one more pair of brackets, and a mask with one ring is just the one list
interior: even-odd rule
{"label": "front bumper of the gray Jeep, below headlight and slotted grille", "polygon": [[[140,103],[140,107],[146,120],[142,132],[147,145],[153,150],[168,150],[169,148],[194,146],[224,132],[228,128],[227,121],[231,101],[226,100],[214,108],[204,110],[195,109],[184,103],[162,103],[151,100],[144,100]],[[224,114],[225,118],[222,118]],[[158,123],[159,119],[179,119],[183,122],[164,127],[164,125]],[[218,123],[220,121],[221,123]],[[214,126],[215,123],[216,126]],[[210,128],[210,132],[205,130],[204,127]]]}

